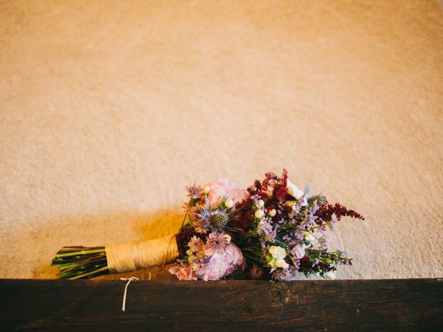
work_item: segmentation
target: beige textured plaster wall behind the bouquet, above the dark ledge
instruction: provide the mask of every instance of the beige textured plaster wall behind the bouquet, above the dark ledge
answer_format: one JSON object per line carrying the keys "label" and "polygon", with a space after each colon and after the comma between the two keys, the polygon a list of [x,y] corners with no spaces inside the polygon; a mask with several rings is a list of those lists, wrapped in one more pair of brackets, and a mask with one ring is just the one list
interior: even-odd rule
{"label": "beige textured plaster wall behind the bouquet, above the dark ledge", "polygon": [[442,100],[435,1],[0,1],[0,277],[282,167],[366,216],[339,277],[443,277]]}

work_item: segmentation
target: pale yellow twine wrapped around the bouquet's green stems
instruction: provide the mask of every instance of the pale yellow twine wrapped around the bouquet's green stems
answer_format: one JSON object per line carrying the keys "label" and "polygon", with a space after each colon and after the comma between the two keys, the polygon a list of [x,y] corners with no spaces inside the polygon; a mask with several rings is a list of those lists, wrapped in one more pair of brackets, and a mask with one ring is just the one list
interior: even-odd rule
{"label": "pale yellow twine wrapped around the bouquet's green stems", "polygon": [[179,257],[175,235],[159,239],[105,246],[110,273],[162,266]]}

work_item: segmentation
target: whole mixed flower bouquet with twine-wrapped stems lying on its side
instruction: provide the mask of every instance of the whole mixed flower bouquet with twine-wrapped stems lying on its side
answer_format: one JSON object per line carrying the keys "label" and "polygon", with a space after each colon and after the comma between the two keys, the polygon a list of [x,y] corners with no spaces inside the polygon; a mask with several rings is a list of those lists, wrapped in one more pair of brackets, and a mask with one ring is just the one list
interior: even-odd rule
{"label": "whole mixed flower bouquet with twine-wrapped stems lying on its side", "polygon": [[340,203],[330,204],[311,187],[300,190],[282,175],[266,173],[247,190],[220,178],[186,187],[189,201],[181,229],[172,237],[102,247],[64,247],[53,265],[59,277],[82,279],[161,266],[180,280],[291,280],[298,273],[332,279],[338,265],[352,265],[324,237],[343,216],[364,220]]}

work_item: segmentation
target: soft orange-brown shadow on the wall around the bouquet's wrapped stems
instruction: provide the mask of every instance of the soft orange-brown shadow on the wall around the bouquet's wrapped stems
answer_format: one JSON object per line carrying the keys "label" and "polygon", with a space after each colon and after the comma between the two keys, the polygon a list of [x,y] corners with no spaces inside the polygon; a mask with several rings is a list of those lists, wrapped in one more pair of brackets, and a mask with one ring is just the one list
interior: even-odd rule
{"label": "soft orange-brown shadow on the wall around the bouquet's wrapped stems", "polygon": [[[32,243],[36,237],[39,239],[46,237],[46,246],[44,246],[45,249],[42,249],[47,250],[47,252],[42,252],[45,256],[44,261],[35,262],[37,266],[33,268],[32,277],[35,279],[56,279],[57,267],[49,266],[49,264],[51,264],[53,255],[63,246],[104,246],[107,243],[142,241],[175,234],[179,231],[183,221],[183,212],[179,213],[180,211],[175,208],[152,214],[116,213],[96,217],[81,216],[74,219],[64,219],[64,221],[47,221],[43,223],[44,227],[29,234],[21,234],[20,239],[15,240]],[[102,232],[91,234],[88,232],[90,226],[93,230],[100,229]],[[122,228],[122,232],[114,234],[113,230],[119,227]],[[60,232],[63,233],[62,237],[60,237]],[[58,244],[60,241],[63,243]],[[48,257],[48,252],[51,253],[51,257]],[[138,277],[138,279],[175,279],[168,272],[168,266],[139,270],[133,273],[105,275],[93,279],[119,279],[132,276]]]}

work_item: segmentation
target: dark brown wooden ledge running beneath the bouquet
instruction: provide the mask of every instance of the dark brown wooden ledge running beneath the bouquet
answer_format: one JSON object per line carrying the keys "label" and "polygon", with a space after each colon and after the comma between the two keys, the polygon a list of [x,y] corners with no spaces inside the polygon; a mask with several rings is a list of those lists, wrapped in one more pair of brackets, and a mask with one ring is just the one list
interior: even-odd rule
{"label": "dark brown wooden ledge running beneath the bouquet", "polygon": [[[0,331],[434,331],[443,279],[0,279]],[[443,330],[440,330],[443,331]]]}

